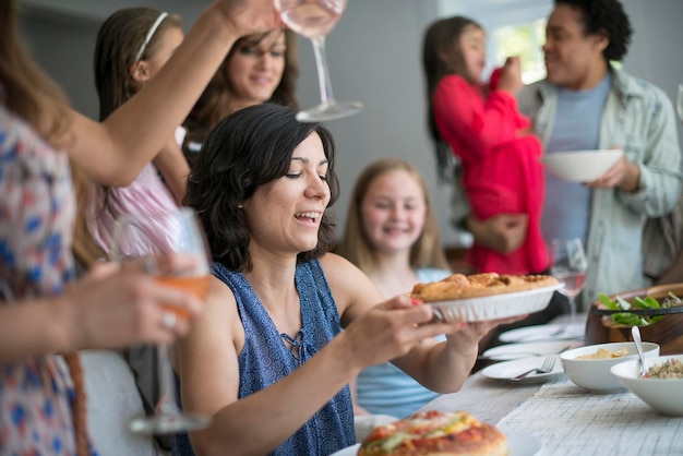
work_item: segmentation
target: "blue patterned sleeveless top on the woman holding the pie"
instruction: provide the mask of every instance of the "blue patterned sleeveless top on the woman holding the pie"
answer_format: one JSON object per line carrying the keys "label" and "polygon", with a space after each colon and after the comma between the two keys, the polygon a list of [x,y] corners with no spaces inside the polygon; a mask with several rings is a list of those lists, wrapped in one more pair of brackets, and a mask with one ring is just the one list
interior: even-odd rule
{"label": "blue patterned sleeveless top on the woman holding the pie", "polygon": [[[293,337],[277,331],[241,272],[214,263],[213,274],[232,290],[244,327],[244,347],[238,357],[240,399],[291,374],[342,332],[339,313],[317,260],[297,265],[295,283],[302,327]],[[297,349],[290,350],[290,345]],[[355,443],[351,394],[345,386],[272,455],[329,455]],[[177,434],[173,455],[193,454],[188,435]]]}

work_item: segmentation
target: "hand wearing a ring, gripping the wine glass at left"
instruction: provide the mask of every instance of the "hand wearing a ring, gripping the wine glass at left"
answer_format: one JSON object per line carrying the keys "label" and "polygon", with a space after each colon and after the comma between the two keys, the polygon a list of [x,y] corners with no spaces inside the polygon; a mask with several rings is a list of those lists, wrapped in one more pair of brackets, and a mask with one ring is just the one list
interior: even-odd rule
{"label": "hand wearing a ring, gripping the wine glass at left", "polygon": [[[167,264],[176,260],[166,259]],[[182,262],[182,259],[177,261]],[[75,348],[120,348],[140,343],[169,344],[190,329],[190,322],[175,317],[169,308],[190,317],[202,302],[192,293],[155,281],[145,272],[148,262],[123,267],[96,264],[91,273],[59,298],[71,325]]]}

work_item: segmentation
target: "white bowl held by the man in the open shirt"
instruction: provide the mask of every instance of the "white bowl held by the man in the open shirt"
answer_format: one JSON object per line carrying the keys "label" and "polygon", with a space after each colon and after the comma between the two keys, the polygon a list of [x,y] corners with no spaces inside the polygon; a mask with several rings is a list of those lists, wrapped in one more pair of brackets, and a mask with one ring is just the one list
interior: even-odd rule
{"label": "white bowl held by the man in the open shirt", "polygon": [[592,182],[623,155],[621,149],[573,151],[544,154],[541,161],[567,182]]}

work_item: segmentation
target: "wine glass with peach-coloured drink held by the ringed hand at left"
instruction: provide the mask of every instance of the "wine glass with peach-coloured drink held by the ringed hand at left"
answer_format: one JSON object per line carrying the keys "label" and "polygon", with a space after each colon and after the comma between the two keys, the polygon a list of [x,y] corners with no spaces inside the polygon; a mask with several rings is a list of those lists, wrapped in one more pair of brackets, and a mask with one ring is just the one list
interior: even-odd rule
{"label": "wine glass with peach-coloured drink held by the ringed hand at left", "polygon": [[[164,253],[175,253],[180,259],[179,264],[166,265],[160,263],[167,262],[154,261],[154,255]],[[205,300],[208,248],[201,224],[191,208],[119,217],[113,229],[112,260],[121,262],[134,257],[144,257],[145,265],[159,283],[190,291]],[[189,317],[187,312],[171,305],[166,311],[165,324],[172,325],[176,319]],[[207,427],[208,417],[183,413],[176,405],[169,349],[164,344],[157,346],[157,363],[160,397],[155,412],[149,417],[134,418],[129,423],[130,430],[142,434],[168,434]]]}

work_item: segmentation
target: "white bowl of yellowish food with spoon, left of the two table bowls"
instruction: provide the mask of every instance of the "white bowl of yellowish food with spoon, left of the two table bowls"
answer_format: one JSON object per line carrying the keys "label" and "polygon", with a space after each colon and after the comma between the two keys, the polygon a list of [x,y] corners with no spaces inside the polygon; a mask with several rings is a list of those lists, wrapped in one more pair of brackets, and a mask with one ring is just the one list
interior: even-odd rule
{"label": "white bowl of yellowish food with spoon, left of the two table bowls", "polygon": [[[608,359],[576,359],[576,357],[582,355],[594,355],[599,348],[604,348],[610,351],[619,351],[625,348],[628,355]],[[646,358],[658,357],[659,345],[655,343],[643,343],[643,351],[645,351]],[[612,375],[610,369],[612,365],[621,362],[637,359],[638,352],[636,351],[635,344],[632,341],[588,345],[560,353],[564,373],[570,380],[575,385],[594,393],[612,393],[624,389],[624,386]]]}

